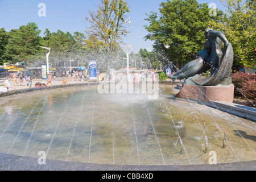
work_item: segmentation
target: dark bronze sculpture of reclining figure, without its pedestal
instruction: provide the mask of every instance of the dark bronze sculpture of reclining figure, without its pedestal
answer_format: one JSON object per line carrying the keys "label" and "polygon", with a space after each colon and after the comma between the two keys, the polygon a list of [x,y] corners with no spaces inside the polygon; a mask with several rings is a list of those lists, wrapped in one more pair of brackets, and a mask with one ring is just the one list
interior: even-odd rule
{"label": "dark bronze sculpture of reclining figure, without its pedestal", "polygon": [[[229,85],[233,64],[233,48],[225,35],[212,28],[205,30],[204,48],[197,53],[195,60],[190,61],[185,67],[169,76],[171,79],[187,79],[184,84],[190,85]],[[221,47],[224,43],[224,51]],[[210,76],[204,77],[199,74],[210,69]]]}

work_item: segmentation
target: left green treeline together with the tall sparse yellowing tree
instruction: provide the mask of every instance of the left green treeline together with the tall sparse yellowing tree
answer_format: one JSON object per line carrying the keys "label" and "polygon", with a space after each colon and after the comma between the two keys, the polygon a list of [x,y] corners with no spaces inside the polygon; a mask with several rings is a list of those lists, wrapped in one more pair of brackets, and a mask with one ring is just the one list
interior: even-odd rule
{"label": "left green treeline together with the tall sparse yellowing tree", "polygon": [[[125,13],[129,12],[127,2],[101,0],[101,6],[98,6],[96,13],[88,12],[92,19],[86,19],[92,23],[92,27],[86,31],[87,37],[81,32],[74,32],[72,35],[61,30],[51,32],[48,28],[41,37],[41,31],[38,30],[36,23],[28,23],[9,32],[1,28],[0,65],[5,61],[11,64],[24,61],[28,66],[40,65],[45,62],[48,52],[40,47],[49,47],[51,48],[49,66],[52,68],[67,67],[69,60],[75,60],[74,65],[86,67],[88,63],[84,59],[93,60],[97,57],[106,65],[104,69],[110,68],[112,62],[119,62],[123,68],[121,63],[125,64],[123,57],[126,53],[122,53],[119,43],[122,41],[121,36],[127,34],[123,26]],[[81,55],[86,58],[83,59]]]}

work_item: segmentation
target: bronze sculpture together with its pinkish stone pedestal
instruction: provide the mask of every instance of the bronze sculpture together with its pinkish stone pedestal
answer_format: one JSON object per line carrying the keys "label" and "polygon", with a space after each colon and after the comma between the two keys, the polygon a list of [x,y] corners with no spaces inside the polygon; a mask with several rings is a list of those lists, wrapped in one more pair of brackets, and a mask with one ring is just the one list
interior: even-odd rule
{"label": "bronze sculpture together with its pinkish stone pedestal", "polygon": [[[169,76],[172,79],[186,78],[176,97],[203,102],[233,102],[234,85],[230,77],[233,65],[232,45],[220,31],[207,28],[204,35],[207,41],[204,43],[204,48],[197,53],[197,58],[190,61],[173,76]],[[222,42],[224,43],[223,53],[221,51]],[[200,75],[209,69],[210,76]],[[195,92],[189,90],[195,90]],[[200,92],[204,94],[198,94]]]}

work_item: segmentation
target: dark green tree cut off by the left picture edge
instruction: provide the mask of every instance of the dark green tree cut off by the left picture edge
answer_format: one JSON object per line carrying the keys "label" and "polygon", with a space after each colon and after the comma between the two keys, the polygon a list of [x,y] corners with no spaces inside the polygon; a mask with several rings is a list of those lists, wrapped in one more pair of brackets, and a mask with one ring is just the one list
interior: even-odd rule
{"label": "dark green tree cut off by the left picture edge", "polygon": [[9,34],[5,31],[5,28],[0,29],[0,65],[5,63],[7,59],[6,53],[6,45],[8,44]]}

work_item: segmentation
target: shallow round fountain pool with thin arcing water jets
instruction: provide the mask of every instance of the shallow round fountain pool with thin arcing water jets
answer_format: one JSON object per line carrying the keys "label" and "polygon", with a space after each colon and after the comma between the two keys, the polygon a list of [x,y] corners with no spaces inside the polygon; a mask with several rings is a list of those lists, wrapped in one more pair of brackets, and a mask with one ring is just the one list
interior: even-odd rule
{"label": "shallow round fountain pool with thin arcing water jets", "polygon": [[[92,60],[86,56],[85,63]],[[101,58],[95,58],[98,65],[104,64]],[[119,83],[110,82],[105,93],[98,92],[99,83],[86,83],[1,97],[0,156],[22,156],[37,168],[40,154],[47,164],[64,165],[182,168],[208,166],[212,155],[223,165],[256,160],[255,122],[176,100],[176,85],[159,85],[154,98],[148,97],[152,92],[120,92]],[[0,169],[16,169],[15,164],[4,162]]]}

